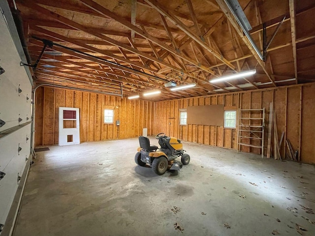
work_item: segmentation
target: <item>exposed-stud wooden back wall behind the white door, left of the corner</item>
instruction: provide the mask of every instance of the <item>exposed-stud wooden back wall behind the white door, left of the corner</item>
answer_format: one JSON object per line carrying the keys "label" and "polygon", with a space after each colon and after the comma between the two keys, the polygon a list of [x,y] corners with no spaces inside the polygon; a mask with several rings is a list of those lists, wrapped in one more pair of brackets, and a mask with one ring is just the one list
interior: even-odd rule
{"label": "exposed-stud wooden back wall behind the white door, left of the corner", "polygon": [[[38,88],[35,99],[35,146],[58,144],[59,107],[80,109],[80,142],[138,137],[143,128],[148,128],[148,135],[154,134],[151,101],[53,87]],[[103,123],[106,108],[114,109],[113,124]]]}

